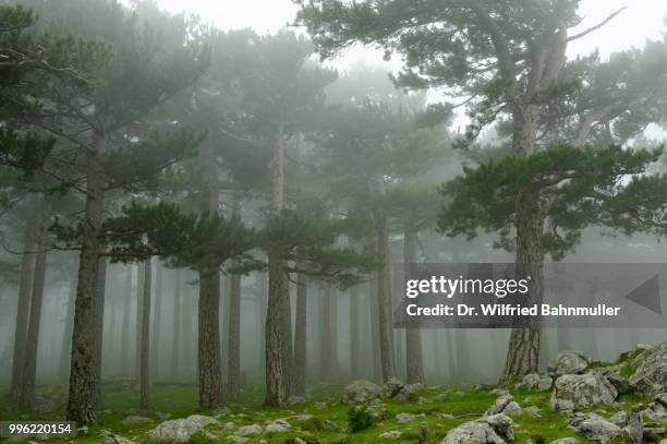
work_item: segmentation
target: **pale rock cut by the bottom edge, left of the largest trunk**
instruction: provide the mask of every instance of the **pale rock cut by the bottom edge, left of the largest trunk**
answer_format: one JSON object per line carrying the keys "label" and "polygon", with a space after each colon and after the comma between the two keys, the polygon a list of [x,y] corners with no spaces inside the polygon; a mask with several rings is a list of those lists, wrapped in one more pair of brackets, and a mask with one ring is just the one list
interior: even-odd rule
{"label": "pale rock cut by the bottom edge, left of the largest trunk", "polygon": [[511,418],[493,415],[452,429],[440,444],[507,444],[513,441]]}

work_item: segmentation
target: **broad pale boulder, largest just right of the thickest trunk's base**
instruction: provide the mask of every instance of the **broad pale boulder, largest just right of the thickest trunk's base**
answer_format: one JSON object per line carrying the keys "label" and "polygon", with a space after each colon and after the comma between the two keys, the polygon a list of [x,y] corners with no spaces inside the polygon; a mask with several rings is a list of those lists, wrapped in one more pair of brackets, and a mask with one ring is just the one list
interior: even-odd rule
{"label": "broad pale boulder, largest just right of the thickest trunk's base", "polygon": [[556,380],[549,404],[556,411],[614,403],[618,392],[598,373],[563,374]]}

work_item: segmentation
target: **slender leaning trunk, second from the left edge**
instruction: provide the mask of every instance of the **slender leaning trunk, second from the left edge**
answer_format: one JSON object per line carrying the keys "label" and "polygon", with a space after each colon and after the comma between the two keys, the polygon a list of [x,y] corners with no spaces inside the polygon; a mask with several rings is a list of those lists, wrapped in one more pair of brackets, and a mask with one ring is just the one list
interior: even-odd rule
{"label": "slender leaning trunk, second from the left edge", "polygon": [[47,266],[47,235],[45,221],[39,229],[37,239],[37,259],[35,261],[35,277],[33,279],[33,297],[31,299],[31,315],[28,319],[27,341],[23,363],[23,384],[19,396],[19,407],[32,410],[35,407],[35,377],[37,376],[37,349],[39,326],[41,324],[41,307],[44,300],[44,283]]}

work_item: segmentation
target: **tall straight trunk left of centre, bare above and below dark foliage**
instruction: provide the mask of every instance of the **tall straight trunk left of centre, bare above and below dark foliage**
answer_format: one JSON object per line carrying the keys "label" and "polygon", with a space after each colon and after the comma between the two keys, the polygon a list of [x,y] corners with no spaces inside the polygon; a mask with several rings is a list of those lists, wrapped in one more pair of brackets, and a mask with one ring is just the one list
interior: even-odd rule
{"label": "tall straight trunk left of centre, bare above and below dark foliage", "polygon": [[[274,143],[272,183],[271,183],[271,211],[278,216],[283,206],[284,191],[284,137],[282,125],[278,128]],[[271,407],[284,406],[288,400],[287,374],[284,373],[283,356],[286,347],[282,341],[284,325],[284,299],[288,297],[288,283],[284,272],[282,252],[279,248],[271,247],[268,250],[268,302],[266,310],[266,398],[264,404]]]}

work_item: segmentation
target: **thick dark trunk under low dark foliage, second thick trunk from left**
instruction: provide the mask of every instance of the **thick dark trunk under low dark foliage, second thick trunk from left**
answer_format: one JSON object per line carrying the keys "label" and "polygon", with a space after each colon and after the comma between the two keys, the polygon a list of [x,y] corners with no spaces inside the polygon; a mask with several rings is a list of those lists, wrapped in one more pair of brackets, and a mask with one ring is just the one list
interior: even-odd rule
{"label": "thick dark trunk under low dark foliage, second thick trunk from left", "polygon": [[220,368],[220,269],[199,271],[199,407],[222,405]]}

